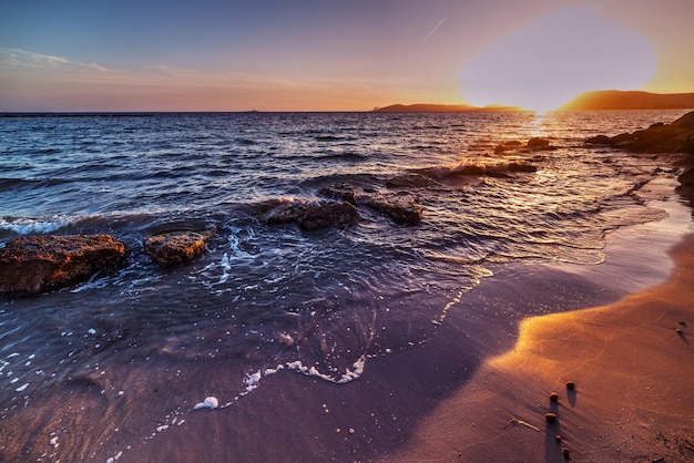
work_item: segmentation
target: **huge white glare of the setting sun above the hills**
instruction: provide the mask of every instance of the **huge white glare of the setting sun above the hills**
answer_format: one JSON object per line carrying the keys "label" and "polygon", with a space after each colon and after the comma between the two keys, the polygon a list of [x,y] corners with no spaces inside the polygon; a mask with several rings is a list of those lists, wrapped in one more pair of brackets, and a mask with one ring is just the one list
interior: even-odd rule
{"label": "huge white glare of the setting sun above the hills", "polygon": [[649,41],[591,7],[545,14],[491,44],[460,72],[462,96],[544,113],[592,90],[636,90],[655,74]]}

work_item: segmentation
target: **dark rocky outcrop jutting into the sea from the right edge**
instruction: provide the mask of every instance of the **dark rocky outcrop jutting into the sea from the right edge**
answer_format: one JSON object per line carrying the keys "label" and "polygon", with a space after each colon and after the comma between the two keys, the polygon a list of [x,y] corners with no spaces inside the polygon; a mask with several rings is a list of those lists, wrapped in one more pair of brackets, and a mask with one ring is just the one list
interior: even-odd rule
{"label": "dark rocky outcrop jutting into the sea from the right edge", "polygon": [[690,153],[694,154],[694,112],[671,124],[657,123],[649,128],[615,136],[598,135],[588,144],[608,145],[635,153]]}

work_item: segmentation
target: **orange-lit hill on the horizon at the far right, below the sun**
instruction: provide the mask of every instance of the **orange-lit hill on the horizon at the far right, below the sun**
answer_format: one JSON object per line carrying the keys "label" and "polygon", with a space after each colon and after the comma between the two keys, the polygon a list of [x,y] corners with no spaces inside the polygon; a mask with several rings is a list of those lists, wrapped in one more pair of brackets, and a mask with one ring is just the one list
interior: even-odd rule
{"label": "orange-lit hill on the horizon at the far right, below the sun", "polygon": [[585,92],[561,106],[574,110],[678,110],[694,109],[694,93],[649,93],[601,90]]}

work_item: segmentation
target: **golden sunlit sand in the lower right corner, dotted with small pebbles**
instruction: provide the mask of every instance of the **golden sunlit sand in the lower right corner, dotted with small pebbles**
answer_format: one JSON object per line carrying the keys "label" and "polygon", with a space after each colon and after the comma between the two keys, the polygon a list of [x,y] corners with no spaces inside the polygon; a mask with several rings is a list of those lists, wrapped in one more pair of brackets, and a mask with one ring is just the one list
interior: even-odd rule
{"label": "golden sunlit sand in the lower right corner, dotted with small pebbles", "polygon": [[388,460],[561,462],[568,449],[571,461],[692,461],[694,234],[667,254],[664,282],[524,319],[513,348],[486,360]]}

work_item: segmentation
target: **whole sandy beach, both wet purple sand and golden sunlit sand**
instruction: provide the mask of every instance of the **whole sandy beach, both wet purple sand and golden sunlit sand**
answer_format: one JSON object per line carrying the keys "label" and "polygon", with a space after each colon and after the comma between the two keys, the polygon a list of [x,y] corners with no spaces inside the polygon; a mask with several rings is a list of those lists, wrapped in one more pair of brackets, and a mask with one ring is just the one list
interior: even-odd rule
{"label": "whole sandy beach, both wet purple sand and golden sunlit sand", "polygon": [[[672,189],[665,196],[675,200]],[[650,226],[612,234],[603,265],[633,253],[639,244],[626,238]],[[428,342],[369,358],[357,381],[282,371],[232,408],[190,413],[124,457],[562,462],[567,446],[572,461],[685,461],[694,444],[694,235],[682,233],[653,246],[664,254],[678,243],[674,266],[651,275],[670,272],[665,282],[643,289],[647,279],[606,278],[623,272],[620,261],[592,278],[561,265],[510,268],[482,280]],[[635,284],[642,289],[630,294]],[[575,394],[567,394],[569,380]],[[559,424],[548,425],[552,410]]]}

